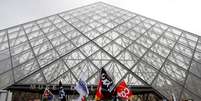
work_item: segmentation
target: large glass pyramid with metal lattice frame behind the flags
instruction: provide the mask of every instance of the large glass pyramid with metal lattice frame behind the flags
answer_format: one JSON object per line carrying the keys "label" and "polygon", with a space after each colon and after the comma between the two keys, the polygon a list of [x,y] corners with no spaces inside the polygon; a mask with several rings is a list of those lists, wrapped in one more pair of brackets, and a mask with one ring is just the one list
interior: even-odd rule
{"label": "large glass pyramid with metal lattice frame behind the flags", "polygon": [[147,85],[201,100],[201,37],[102,2],[0,31],[0,89],[13,84]]}

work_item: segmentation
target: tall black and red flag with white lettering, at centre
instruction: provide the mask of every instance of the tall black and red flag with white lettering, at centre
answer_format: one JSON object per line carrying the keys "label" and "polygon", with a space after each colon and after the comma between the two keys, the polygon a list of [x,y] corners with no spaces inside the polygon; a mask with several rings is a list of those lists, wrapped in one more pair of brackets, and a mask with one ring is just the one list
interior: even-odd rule
{"label": "tall black and red flag with white lettering, at centre", "polygon": [[100,80],[98,83],[95,100],[112,98],[114,91],[114,82],[106,73],[105,69],[101,69]]}

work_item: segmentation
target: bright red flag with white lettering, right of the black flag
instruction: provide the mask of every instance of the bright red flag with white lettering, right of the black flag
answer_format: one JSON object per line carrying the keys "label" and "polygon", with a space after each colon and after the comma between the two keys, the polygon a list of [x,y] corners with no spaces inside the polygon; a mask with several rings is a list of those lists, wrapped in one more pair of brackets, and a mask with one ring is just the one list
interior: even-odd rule
{"label": "bright red flag with white lettering, right of the black flag", "polygon": [[132,97],[132,92],[128,89],[126,82],[123,80],[117,87],[116,92],[121,99],[130,99]]}

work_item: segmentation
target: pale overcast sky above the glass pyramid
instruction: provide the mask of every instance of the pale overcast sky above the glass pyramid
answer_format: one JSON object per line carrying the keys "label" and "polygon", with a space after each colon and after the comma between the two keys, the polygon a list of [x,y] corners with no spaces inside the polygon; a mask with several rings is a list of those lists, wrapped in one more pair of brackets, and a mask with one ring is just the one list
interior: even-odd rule
{"label": "pale overcast sky above the glass pyramid", "polygon": [[200,0],[0,0],[0,29],[97,1],[201,35]]}

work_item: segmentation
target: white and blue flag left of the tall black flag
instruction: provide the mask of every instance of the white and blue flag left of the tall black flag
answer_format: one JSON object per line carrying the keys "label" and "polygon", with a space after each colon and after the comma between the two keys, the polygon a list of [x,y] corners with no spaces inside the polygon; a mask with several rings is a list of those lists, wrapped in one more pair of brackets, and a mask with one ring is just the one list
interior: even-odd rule
{"label": "white and blue flag left of the tall black flag", "polygon": [[75,86],[75,90],[80,94],[78,101],[86,101],[86,97],[89,95],[87,83],[80,79]]}

